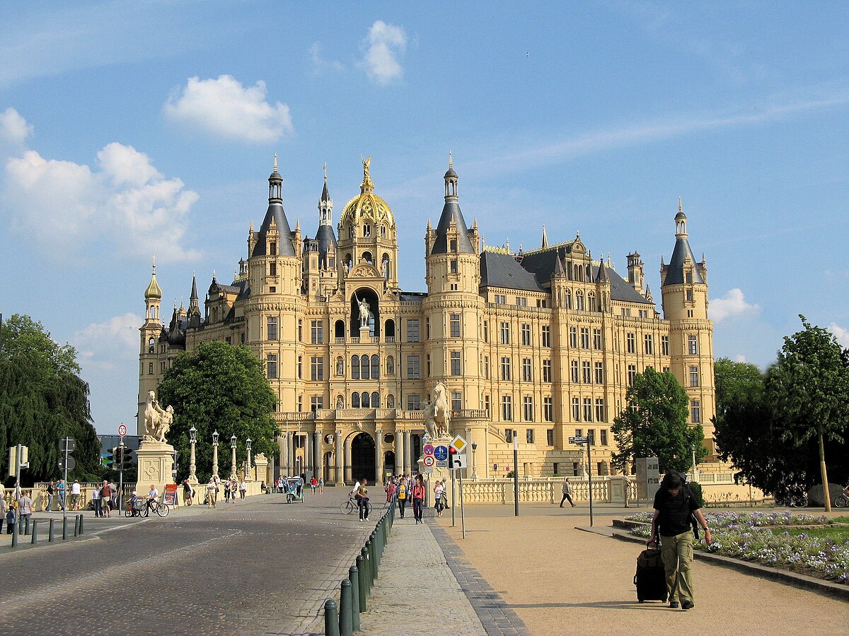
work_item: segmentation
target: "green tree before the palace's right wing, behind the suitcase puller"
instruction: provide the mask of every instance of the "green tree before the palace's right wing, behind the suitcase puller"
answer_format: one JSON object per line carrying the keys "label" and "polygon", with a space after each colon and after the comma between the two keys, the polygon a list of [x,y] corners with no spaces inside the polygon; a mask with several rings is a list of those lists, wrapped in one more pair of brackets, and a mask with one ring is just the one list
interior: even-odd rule
{"label": "green tree before the palace's right wing, behind the suitcase puller", "polygon": [[638,373],[627,391],[627,407],[610,429],[617,450],[611,455],[620,471],[637,457],[657,457],[661,471],[688,471],[707,455],[701,425],[689,425],[689,396],[669,371],[651,367]]}

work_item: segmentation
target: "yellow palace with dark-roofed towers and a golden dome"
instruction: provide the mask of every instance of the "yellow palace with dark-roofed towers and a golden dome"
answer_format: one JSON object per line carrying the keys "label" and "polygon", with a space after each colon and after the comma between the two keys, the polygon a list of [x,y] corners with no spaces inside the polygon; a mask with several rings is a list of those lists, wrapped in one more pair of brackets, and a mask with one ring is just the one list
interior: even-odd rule
{"label": "yellow palace with dark-roofed towers and a golden dome", "polygon": [[407,292],[398,285],[396,220],[369,167],[370,158],[335,228],[325,171],[308,237],[300,222],[291,229],[275,158],[267,212],[258,230],[250,223],[233,281],[213,275],[201,299],[193,278],[188,309],[175,303],[167,324],[154,265],[139,421],[171,360],[220,340],[263,360],[278,396],[276,465],[286,474],[351,483],[416,471],[422,409],[437,382],[450,398],[451,432],[469,442],[466,477],[504,477],[514,438],[520,475],[584,474],[583,447],[568,441],[582,435],[592,439],[593,473],[609,474],[613,418],[633,377],[651,366],[686,388],[690,421],[705,428],[707,461],[717,461],[707,268],[689,246],[680,200],[659,310],[637,252],[620,276],[580,235],[548,243],[544,227],[538,248],[483,246],[477,221],[469,227],[460,210],[449,160],[439,222],[424,228],[427,291]]}

